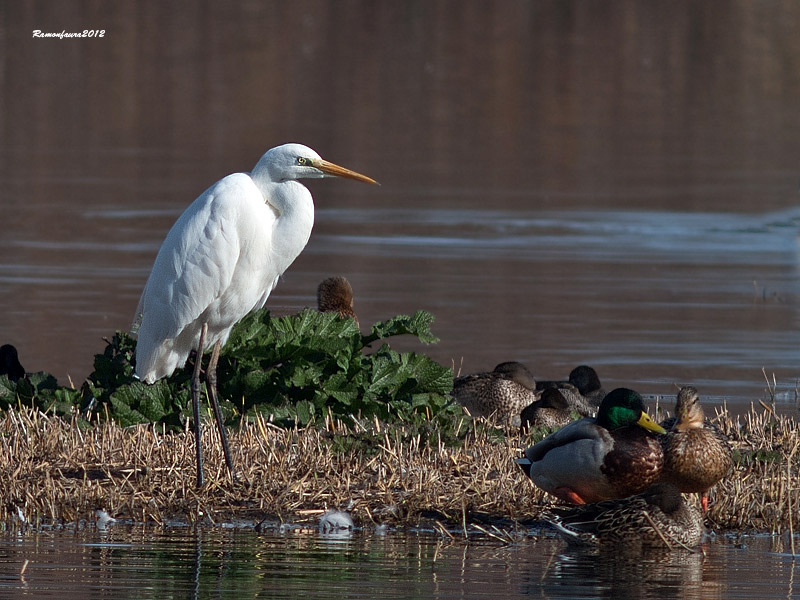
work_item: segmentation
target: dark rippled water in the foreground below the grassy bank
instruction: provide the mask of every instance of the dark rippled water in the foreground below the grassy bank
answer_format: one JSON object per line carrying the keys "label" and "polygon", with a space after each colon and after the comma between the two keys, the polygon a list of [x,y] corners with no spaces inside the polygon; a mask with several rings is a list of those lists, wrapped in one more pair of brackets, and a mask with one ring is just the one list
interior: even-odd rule
{"label": "dark rippled water in the foreground below the grassy bank", "polygon": [[[26,564],[27,562],[27,564]],[[14,598],[798,598],[782,538],[697,551],[572,549],[552,533],[502,544],[426,532],[113,526],[0,536]]]}

